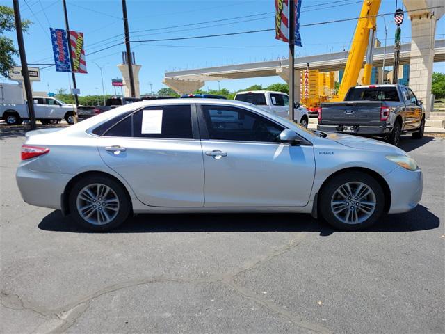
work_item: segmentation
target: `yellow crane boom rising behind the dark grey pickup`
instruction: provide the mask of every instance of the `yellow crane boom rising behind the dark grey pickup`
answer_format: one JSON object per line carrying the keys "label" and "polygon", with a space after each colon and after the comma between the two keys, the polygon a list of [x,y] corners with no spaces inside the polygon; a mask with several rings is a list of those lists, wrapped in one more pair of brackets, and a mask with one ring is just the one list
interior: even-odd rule
{"label": "yellow crane boom rising behind the dark grey pickup", "polygon": [[375,41],[376,21],[381,0],[364,0],[360,18],[355,28],[353,42],[350,46],[348,61],[346,61],[345,72],[341,79],[339,92],[330,101],[343,101],[349,88],[357,85],[360,69],[366,50],[366,61],[364,64],[364,75],[362,84],[371,83],[371,70],[373,68],[373,47]]}

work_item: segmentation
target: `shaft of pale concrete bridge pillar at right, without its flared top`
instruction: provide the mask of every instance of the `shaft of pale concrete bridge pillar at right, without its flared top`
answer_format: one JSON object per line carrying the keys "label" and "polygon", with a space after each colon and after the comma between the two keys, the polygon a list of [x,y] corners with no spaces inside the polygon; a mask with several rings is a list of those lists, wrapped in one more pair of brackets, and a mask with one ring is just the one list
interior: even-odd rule
{"label": "shaft of pale concrete bridge pillar at right, without its flared top", "polygon": [[426,117],[430,117],[432,64],[437,18],[433,15],[412,17],[410,88],[423,101]]}

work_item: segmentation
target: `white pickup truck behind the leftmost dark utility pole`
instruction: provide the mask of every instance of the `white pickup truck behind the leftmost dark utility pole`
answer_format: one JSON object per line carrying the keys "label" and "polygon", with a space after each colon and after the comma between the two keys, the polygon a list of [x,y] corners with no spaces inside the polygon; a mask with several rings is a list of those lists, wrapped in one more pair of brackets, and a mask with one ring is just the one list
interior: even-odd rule
{"label": "white pickup truck behind the leftmost dark utility pole", "polygon": [[[74,105],[66,104],[54,97],[34,96],[35,120],[42,124],[55,124],[59,120],[66,120],[68,124],[74,123]],[[23,120],[29,119],[26,102],[2,103],[0,104],[0,118],[8,125],[22,124]]]}

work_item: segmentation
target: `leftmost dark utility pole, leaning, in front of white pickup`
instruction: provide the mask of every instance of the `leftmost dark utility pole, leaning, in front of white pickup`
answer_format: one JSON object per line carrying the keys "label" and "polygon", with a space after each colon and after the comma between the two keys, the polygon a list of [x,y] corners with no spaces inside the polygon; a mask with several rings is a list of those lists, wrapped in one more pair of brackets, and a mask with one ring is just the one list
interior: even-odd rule
{"label": "leftmost dark utility pole, leaning, in front of white pickup", "polygon": [[20,62],[22,63],[22,76],[25,85],[26,102],[28,102],[29,119],[31,120],[31,130],[35,130],[35,114],[33,92],[31,90],[31,81],[29,81],[28,62],[26,61],[25,45],[23,41],[22,19],[20,17],[19,0],[13,0],[15,30],[17,31],[17,42],[19,44]]}

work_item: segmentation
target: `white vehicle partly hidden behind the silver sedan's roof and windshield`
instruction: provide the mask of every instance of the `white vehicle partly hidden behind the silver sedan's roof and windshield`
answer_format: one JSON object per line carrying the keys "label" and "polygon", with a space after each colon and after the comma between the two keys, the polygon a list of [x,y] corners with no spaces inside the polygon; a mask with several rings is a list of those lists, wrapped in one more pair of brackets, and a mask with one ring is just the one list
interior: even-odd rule
{"label": "white vehicle partly hidden behind the silver sedan's roof and windshield", "polygon": [[[252,103],[259,108],[282,118],[289,118],[289,95],[270,90],[255,90],[252,92],[238,92],[234,100]],[[307,109],[296,103],[293,108],[293,120],[303,127],[309,124]]]}

